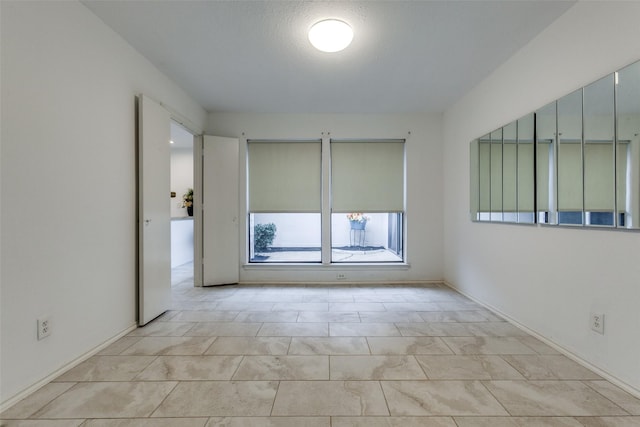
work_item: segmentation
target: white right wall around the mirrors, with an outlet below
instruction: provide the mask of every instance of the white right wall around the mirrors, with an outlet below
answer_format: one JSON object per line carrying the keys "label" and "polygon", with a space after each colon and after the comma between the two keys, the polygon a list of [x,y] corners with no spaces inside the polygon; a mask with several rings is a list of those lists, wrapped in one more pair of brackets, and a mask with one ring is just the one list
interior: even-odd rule
{"label": "white right wall around the mirrors, with an outlet below", "polygon": [[640,235],[471,223],[468,170],[473,138],[640,59],[638,22],[638,2],[578,2],[443,122],[446,280],[636,391]]}

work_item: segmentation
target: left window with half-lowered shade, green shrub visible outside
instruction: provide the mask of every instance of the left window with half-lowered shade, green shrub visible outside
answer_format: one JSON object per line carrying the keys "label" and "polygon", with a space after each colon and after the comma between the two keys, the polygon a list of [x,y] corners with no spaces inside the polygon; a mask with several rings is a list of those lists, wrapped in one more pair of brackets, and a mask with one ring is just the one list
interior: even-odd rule
{"label": "left window with half-lowered shade, green shrub visible outside", "polygon": [[247,141],[249,261],[321,261],[321,141]]}

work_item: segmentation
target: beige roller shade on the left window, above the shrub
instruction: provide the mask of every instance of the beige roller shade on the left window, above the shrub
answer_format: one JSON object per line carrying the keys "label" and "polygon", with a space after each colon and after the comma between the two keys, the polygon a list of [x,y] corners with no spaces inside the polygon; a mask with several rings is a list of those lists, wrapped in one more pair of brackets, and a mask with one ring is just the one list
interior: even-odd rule
{"label": "beige roller shade on the left window, above the shrub", "polygon": [[320,212],[321,141],[247,141],[249,211]]}

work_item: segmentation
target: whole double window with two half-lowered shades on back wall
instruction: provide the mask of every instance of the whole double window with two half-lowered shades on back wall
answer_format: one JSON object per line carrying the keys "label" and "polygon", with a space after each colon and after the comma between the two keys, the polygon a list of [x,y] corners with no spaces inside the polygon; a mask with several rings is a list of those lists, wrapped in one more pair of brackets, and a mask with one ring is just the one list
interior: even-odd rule
{"label": "whole double window with two half-lowered shades on back wall", "polygon": [[249,140],[247,152],[249,262],[403,261],[404,140]]}

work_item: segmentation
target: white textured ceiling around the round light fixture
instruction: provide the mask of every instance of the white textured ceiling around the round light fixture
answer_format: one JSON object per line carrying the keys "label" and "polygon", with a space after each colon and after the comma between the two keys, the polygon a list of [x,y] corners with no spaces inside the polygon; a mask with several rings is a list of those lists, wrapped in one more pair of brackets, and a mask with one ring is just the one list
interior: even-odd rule
{"label": "white textured ceiling around the round light fixture", "polygon": [[[574,1],[83,0],[207,111],[440,112]],[[310,26],[348,22],[338,53]]]}

